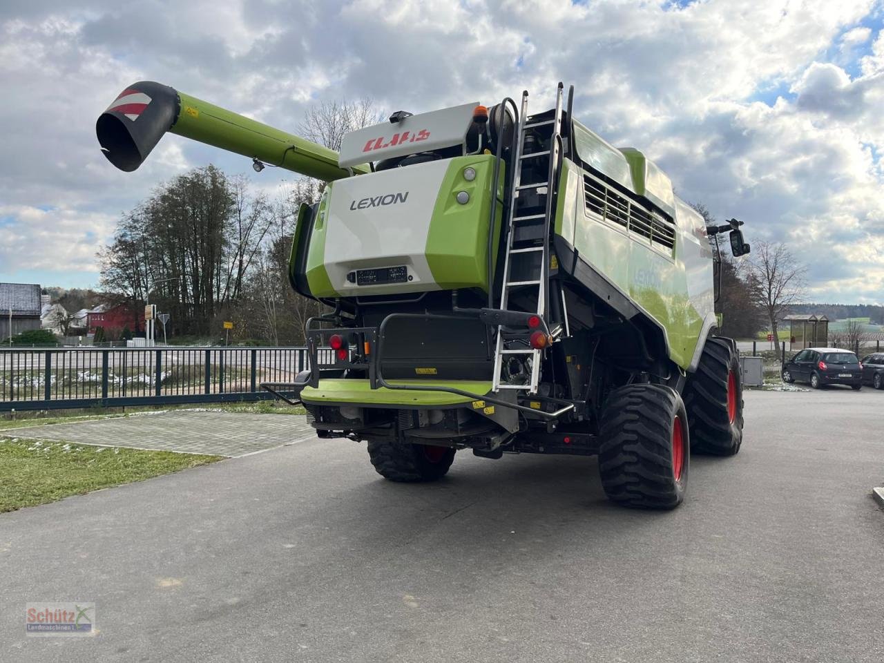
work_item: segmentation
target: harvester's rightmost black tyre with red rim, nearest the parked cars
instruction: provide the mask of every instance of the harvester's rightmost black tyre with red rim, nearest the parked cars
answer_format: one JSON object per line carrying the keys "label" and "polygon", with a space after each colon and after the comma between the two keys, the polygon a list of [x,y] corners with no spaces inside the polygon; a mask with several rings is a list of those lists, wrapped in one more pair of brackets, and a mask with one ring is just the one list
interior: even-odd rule
{"label": "harvester's rightmost black tyre with red rim, nearest the parked cars", "polygon": [[727,340],[706,339],[697,372],[684,386],[684,404],[693,451],[716,456],[739,453],[743,444],[743,377],[740,354]]}

